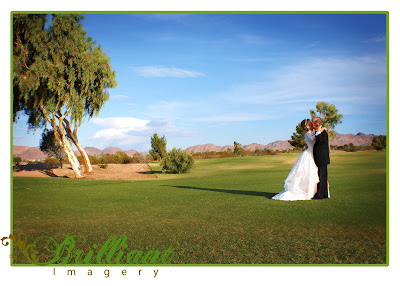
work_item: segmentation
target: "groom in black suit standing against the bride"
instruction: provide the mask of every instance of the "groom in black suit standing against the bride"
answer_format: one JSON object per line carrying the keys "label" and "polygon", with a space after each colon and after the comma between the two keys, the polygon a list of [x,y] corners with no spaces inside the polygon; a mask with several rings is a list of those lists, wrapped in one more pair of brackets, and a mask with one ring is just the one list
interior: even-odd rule
{"label": "groom in black suit standing against the bride", "polygon": [[322,128],[322,120],[316,117],[312,120],[312,124],[316,131],[314,144],[314,161],[318,167],[319,183],[317,185],[317,193],[313,199],[329,198],[328,191],[328,164],[329,160],[329,138],[326,128]]}

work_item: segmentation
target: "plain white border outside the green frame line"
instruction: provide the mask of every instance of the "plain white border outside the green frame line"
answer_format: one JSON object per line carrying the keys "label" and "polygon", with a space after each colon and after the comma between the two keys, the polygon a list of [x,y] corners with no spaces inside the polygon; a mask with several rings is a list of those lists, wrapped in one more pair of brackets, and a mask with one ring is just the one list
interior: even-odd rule
{"label": "plain white border outside the green frame line", "polygon": [[[215,1],[205,0],[200,3],[190,1],[6,1],[2,3],[1,10],[1,38],[3,41],[1,63],[2,63],[2,90],[0,96],[0,113],[3,127],[1,131],[7,134],[6,140],[2,141],[3,163],[1,164],[2,190],[0,206],[0,236],[7,236],[10,231],[10,168],[7,164],[10,156],[10,120],[6,112],[10,106],[9,70],[10,70],[10,12],[11,11],[389,11],[390,20],[390,265],[388,267],[156,267],[159,273],[156,278],[150,275],[153,267],[142,267],[148,271],[139,276],[137,267],[76,267],[77,275],[70,277],[66,275],[53,276],[53,269],[49,267],[10,267],[7,259],[10,254],[9,247],[0,245],[0,277],[2,281],[9,281],[15,285],[20,283],[41,285],[83,285],[88,282],[96,284],[126,283],[129,285],[186,285],[189,283],[217,284],[226,282],[231,285],[244,283],[262,282],[267,285],[394,285],[398,283],[399,269],[399,243],[398,233],[399,188],[392,182],[397,173],[397,162],[399,151],[397,149],[399,121],[396,116],[398,102],[398,52],[399,33],[396,27],[400,27],[399,8],[395,1]],[[64,267],[56,268],[57,274]],[[118,275],[122,269],[127,269],[127,276]],[[66,268],[69,269],[69,268]],[[94,271],[93,277],[87,277],[87,270]],[[105,278],[104,270],[110,269],[110,277]],[[143,270],[143,271],[144,271]],[[83,273],[83,274],[79,274]],[[113,274],[114,273],[114,274]],[[150,273],[150,274],[149,274]],[[78,275],[79,274],[79,275]],[[394,282],[396,281],[396,282]],[[224,283],[225,284],[225,283]],[[111,285],[111,284],[110,284]]]}

